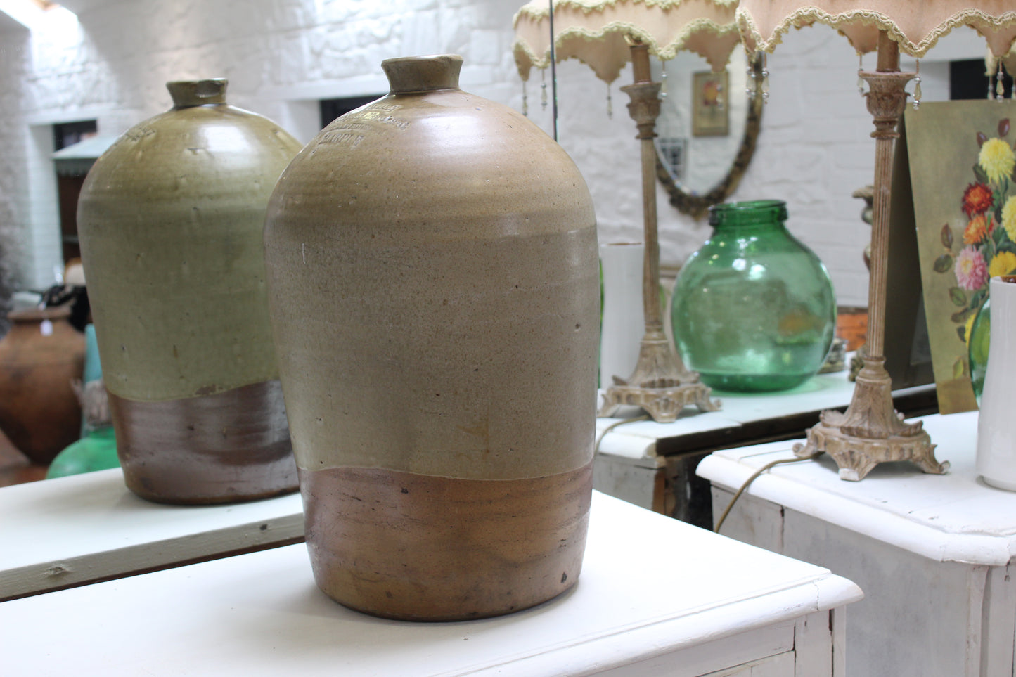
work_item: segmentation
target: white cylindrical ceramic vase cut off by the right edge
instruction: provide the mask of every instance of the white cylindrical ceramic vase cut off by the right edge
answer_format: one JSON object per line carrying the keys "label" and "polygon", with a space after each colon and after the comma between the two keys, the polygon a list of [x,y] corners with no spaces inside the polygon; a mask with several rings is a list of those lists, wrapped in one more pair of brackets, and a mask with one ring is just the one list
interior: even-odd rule
{"label": "white cylindrical ceramic vase cut off by the right edge", "polygon": [[1016,491],[1016,283],[991,281],[992,343],[977,421],[977,474]]}

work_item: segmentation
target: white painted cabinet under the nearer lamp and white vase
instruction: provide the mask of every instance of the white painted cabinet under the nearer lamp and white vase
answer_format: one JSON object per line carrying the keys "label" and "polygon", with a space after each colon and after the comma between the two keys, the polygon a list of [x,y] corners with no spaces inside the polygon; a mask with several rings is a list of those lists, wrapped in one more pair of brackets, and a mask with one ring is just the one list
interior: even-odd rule
{"label": "white painted cabinet under the nearer lamp and white vase", "polygon": [[[977,414],[922,419],[949,474],[883,464],[861,482],[835,464],[776,466],[738,499],[721,534],[827,566],[867,595],[848,612],[847,674],[1014,674],[1016,493],[976,477]],[[700,465],[713,511],[792,442],[717,451]]]}

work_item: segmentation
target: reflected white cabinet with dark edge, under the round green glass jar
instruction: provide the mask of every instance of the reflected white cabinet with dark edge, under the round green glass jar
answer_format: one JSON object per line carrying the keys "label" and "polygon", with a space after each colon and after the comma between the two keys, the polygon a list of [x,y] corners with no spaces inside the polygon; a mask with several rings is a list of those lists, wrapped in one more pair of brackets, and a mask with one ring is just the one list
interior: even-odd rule
{"label": "reflected white cabinet with dark edge, under the round green glass jar", "polygon": [[[626,423],[602,435],[593,486],[635,505],[708,527],[708,484],[695,479],[695,466],[703,455],[797,436],[818,423],[822,410],[845,409],[852,394],[846,371],[818,374],[782,392],[714,391],[722,402],[717,412],[689,407],[674,423]],[[893,399],[903,412],[938,411],[934,384],[896,390]],[[628,407],[615,417],[597,419],[596,435],[642,414]]]}

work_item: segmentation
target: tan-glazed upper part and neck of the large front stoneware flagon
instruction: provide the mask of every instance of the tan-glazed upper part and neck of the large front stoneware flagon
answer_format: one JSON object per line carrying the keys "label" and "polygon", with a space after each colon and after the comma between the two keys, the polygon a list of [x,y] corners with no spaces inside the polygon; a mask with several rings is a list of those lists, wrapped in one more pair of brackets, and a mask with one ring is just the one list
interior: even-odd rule
{"label": "tan-glazed upper part and neck of the large front stoneware flagon", "polygon": [[385,62],[393,91],[328,125],[269,203],[297,463],[574,471],[591,459],[595,399],[589,192],[547,134],[459,89],[457,57],[437,59],[452,63]]}

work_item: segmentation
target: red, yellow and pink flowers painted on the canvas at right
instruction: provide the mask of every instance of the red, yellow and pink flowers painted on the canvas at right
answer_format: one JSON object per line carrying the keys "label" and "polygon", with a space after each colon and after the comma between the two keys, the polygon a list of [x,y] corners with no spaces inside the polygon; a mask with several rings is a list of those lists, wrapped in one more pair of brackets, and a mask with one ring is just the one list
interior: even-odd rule
{"label": "red, yellow and pink flowers painted on the canvas at right", "polygon": [[[945,252],[935,259],[935,271],[955,278],[949,299],[956,307],[950,316],[956,332],[969,341],[970,325],[977,310],[988,300],[988,281],[1016,271],[1016,151],[1006,137],[1009,119],[999,122],[998,136],[977,132],[979,147],[973,166],[974,181],[967,185],[959,208],[967,223],[959,237],[949,225],[942,227]],[[971,139],[972,146],[972,139]],[[971,147],[972,150],[972,147]],[[1011,194],[1012,193],[1012,194]],[[963,371],[965,365],[956,368]],[[955,370],[954,370],[955,371]],[[954,374],[959,377],[960,374]]]}

